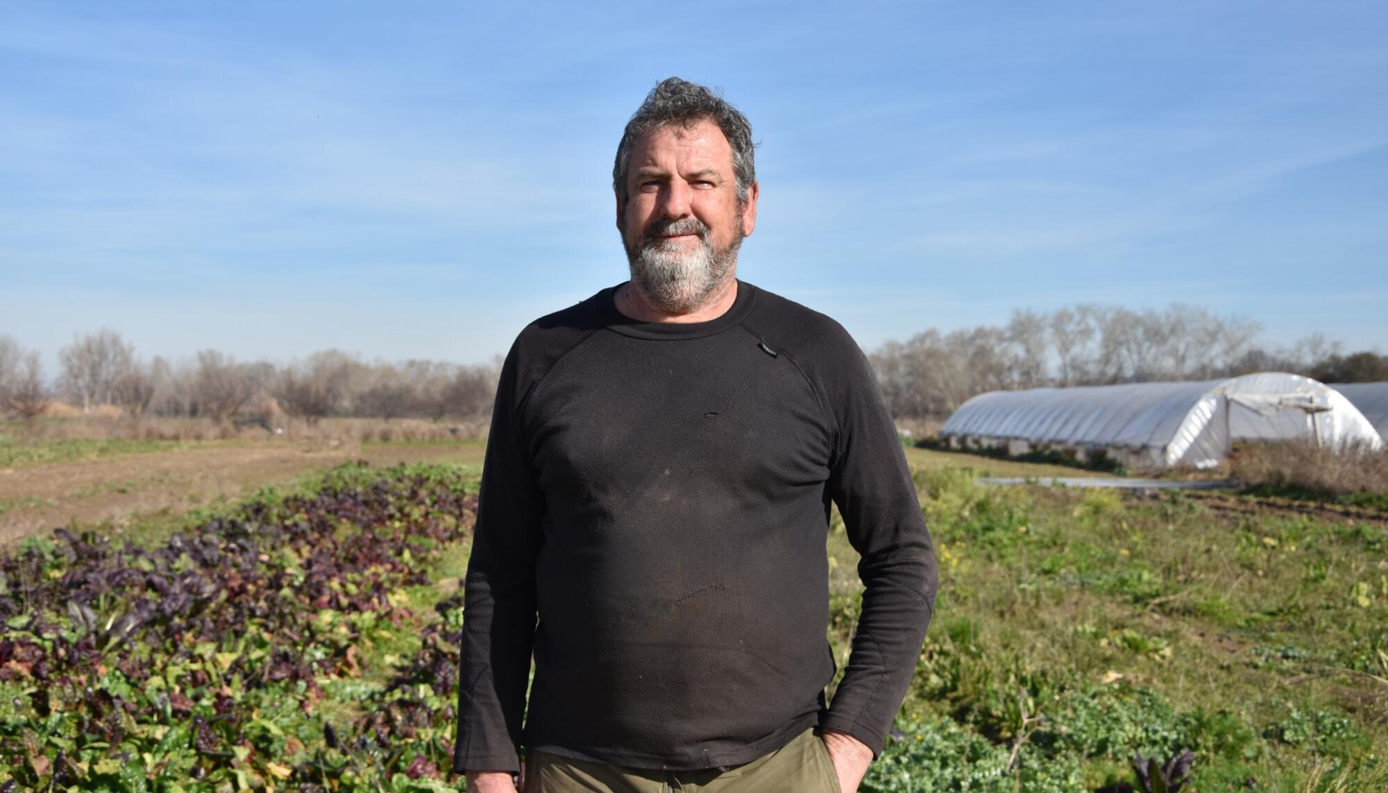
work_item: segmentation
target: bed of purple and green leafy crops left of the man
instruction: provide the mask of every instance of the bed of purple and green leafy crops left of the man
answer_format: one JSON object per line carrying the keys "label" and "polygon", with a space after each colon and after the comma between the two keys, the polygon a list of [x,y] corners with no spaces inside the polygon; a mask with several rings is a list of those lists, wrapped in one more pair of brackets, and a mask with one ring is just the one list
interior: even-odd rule
{"label": "bed of purple and green leafy crops left of the man", "polygon": [[151,549],[29,542],[0,580],[3,789],[446,789],[461,598],[423,620],[411,592],[466,541],[465,485],[348,466]]}

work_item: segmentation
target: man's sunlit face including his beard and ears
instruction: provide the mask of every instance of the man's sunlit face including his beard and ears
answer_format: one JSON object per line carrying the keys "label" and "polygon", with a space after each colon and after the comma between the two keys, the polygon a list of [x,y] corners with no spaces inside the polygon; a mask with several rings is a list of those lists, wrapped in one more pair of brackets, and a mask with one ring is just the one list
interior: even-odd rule
{"label": "man's sunlit face including his beard and ears", "polygon": [[627,165],[626,205],[618,197],[632,279],[670,312],[697,308],[737,265],[756,225],[756,184],[737,200],[733,148],[711,121],[645,133]]}

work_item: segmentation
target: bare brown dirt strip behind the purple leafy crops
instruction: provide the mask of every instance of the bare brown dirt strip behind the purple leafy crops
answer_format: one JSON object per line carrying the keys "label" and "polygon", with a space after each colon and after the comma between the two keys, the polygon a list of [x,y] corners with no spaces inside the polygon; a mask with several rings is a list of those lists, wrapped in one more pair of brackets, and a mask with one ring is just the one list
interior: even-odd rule
{"label": "bare brown dirt strip behind the purple leafy crops", "polygon": [[182,513],[354,459],[378,466],[425,460],[480,464],[482,452],[475,442],[308,448],[272,441],[0,469],[0,546],[74,520],[121,527],[143,513]]}

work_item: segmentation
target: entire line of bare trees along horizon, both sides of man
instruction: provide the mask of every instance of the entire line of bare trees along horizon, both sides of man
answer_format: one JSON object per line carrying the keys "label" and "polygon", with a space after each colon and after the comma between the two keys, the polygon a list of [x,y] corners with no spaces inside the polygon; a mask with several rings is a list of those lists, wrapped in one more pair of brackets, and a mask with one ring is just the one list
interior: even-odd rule
{"label": "entire line of bare trees along horizon, both sides of man", "polygon": [[[1291,348],[1258,341],[1262,327],[1242,316],[1173,304],[1131,311],[1081,304],[1053,312],[1016,311],[1004,326],[888,341],[870,359],[892,415],[948,416],[985,391],[1038,385],[1101,385],[1153,380],[1209,380],[1252,372],[1291,372],[1323,383],[1388,381],[1388,356],[1344,354],[1312,334]],[[0,412],[32,419],[54,399],[82,410],[118,405],[132,417],[205,416],[229,421],[273,399],[290,416],[483,419],[491,410],[500,363],[364,362],[339,349],[287,365],[239,362],[215,349],[171,362],[139,358],[114,330],[74,338],[44,378],[39,354],[0,336]]]}

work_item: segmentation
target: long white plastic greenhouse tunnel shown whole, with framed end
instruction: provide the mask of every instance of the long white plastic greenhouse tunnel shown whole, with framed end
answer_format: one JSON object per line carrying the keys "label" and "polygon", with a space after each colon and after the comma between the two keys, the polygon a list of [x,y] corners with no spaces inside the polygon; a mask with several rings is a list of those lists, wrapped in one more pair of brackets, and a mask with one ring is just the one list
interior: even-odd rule
{"label": "long white plastic greenhouse tunnel shown whole, with framed end", "polygon": [[1349,399],[1298,374],[1266,372],[1199,383],[1133,383],[980,394],[949,416],[955,446],[1105,453],[1130,469],[1214,466],[1235,441],[1382,439]]}

